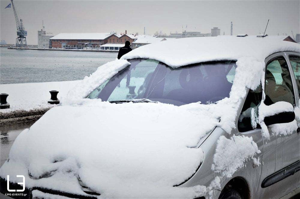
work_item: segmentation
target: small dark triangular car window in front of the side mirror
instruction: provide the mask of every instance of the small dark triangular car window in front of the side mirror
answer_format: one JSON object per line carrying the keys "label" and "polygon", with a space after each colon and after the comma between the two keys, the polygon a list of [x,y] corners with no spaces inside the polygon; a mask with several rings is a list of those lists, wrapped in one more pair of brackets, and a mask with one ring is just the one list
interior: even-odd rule
{"label": "small dark triangular car window in front of the side mirror", "polygon": [[255,90],[249,90],[241,114],[238,117],[238,131],[246,132],[256,128],[258,118],[258,106],[262,100],[262,86]]}

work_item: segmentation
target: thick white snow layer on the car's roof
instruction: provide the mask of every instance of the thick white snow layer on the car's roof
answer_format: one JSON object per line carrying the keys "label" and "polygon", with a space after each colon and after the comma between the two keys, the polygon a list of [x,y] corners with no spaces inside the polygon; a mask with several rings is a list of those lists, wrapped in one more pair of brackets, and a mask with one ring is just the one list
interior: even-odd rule
{"label": "thick white snow layer on the car's roof", "polygon": [[238,60],[241,57],[264,61],[269,55],[282,51],[300,52],[300,45],[278,38],[180,38],[138,47],[121,59],[154,59],[176,68],[205,61]]}

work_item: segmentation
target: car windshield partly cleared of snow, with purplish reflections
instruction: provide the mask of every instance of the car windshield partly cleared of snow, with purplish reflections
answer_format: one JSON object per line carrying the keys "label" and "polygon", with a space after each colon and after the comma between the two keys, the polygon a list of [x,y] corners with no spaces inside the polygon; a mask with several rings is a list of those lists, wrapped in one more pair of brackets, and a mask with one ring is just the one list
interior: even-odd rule
{"label": "car windshield partly cleared of snow, with purplish reflections", "polygon": [[130,66],[87,98],[110,102],[149,99],[176,106],[199,101],[214,103],[229,97],[236,68],[235,61],[203,62],[176,69],[156,60],[128,61]]}

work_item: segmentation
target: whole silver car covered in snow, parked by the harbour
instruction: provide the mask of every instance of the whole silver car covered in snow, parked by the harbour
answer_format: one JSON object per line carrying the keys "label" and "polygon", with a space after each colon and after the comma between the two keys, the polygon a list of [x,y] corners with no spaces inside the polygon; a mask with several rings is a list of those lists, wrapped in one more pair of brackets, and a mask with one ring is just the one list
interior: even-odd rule
{"label": "whole silver car covered in snow, parked by the harbour", "polygon": [[16,193],[33,198],[291,197],[300,187],[299,66],[300,45],[271,38],[139,47],[20,133],[1,192],[22,189],[22,175]]}

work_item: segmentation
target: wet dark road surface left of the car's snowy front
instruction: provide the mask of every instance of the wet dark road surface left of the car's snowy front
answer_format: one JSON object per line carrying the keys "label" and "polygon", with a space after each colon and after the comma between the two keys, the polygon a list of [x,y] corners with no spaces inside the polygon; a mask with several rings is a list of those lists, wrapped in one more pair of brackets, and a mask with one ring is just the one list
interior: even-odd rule
{"label": "wet dark road surface left of the car's snowy front", "polygon": [[16,137],[26,128],[30,128],[34,122],[13,126],[0,127],[0,167],[7,160],[9,151]]}

